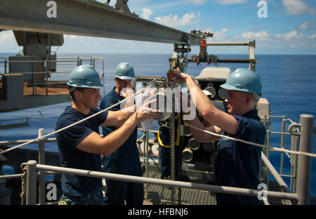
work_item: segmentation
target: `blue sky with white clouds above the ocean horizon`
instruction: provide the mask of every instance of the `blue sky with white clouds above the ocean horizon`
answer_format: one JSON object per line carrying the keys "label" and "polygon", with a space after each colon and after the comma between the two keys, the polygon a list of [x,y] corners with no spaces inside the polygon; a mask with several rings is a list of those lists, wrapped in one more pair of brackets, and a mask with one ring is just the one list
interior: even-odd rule
{"label": "blue sky with white clouds above the ocean horizon", "polygon": [[[104,0],[105,1],[105,0]],[[100,1],[100,2],[104,2]],[[316,0],[265,0],[267,18],[259,18],[259,0],[129,0],[141,18],[185,32],[212,31],[207,41],[256,40],[256,54],[316,54]],[[110,6],[116,1],[112,0]],[[58,53],[171,53],[173,45],[64,35]],[[17,53],[12,31],[0,32],[0,52]],[[218,53],[248,53],[246,48],[216,48]],[[197,53],[197,46],[192,53]]]}

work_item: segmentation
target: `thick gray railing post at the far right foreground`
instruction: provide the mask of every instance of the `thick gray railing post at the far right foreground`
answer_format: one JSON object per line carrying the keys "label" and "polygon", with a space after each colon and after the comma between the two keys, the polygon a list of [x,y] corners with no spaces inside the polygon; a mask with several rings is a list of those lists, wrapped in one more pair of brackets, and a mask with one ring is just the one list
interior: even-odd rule
{"label": "thick gray railing post at the far right foreground", "polygon": [[[299,151],[312,152],[312,134],[314,128],[314,117],[308,114],[301,114],[301,138]],[[310,174],[312,170],[312,158],[298,155],[296,193],[298,194],[298,204],[309,204],[310,199]]]}

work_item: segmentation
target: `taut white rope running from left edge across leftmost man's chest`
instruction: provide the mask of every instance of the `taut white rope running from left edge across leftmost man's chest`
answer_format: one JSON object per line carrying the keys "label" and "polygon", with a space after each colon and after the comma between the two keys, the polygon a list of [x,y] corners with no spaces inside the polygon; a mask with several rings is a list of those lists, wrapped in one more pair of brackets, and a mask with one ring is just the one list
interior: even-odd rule
{"label": "taut white rope running from left edge across leftmost man's chest", "polygon": [[86,121],[86,120],[88,120],[88,119],[91,119],[92,117],[96,117],[96,115],[101,114],[101,113],[103,113],[103,112],[105,112],[105,111],[107,111],[107,110],[110,110],[110,109],[113,108],[113,107],[116,107],[117,105],[121,104],[122,102],[125,102],[126,100],[129,100],[129,99],[132,98],[134,95],[138,95],[139,93],[142,93],[143,91],[145,91],[145,90],[147,90],[148,88],[151,88],[151,87],[152,87],[152,85],[148,85],[148,86],[146,86],[145,88],[141,89],[140,91],[137,91],[137,92],[134,93],[133,95],[129,96],[128,98],[125,98],[124,100],[121,100],[121,101],[117,102],[116,104],[114,104],[114,105],[112,105],[112,106],[110,106],[110,107],[107,107],[105,110],[101,110],[100,112],[96,112],[95,114],[92,114],[90,117],[86,117],[85,119],[81,119],[80,121],[77,121],[77,122],[75,122],[75,123],[73,123],[73,124],[70,124],[69,126],[66,126],[66,127],[64,127],[64,128],[60,128],[59,130],[53,131],[52,133],[49,133],[49,134],[47,134],[47,135],[43,135],[43,136],[41,136],[41,137],[39,137],[39,138],[36,138],[36,139],[33,139],[33,140],[29,140],[28,142],[25,142],[25,143],[23,143],[23,144],[21,144],[21,145],[16,145],[16,146],[14,146],[14,147],[8,148],[7,150],[0,151],[0,154],[4,154],[4,153],[6,153],[6,152],[10,152],[11,150],[15,150],[15,149],[17,149],[18,147],[22,147],[22,146],[24,146],[24,145],[28,145],[28,144],[30,144],[30,143],[32,143],[32,142],[35,142],[35,141],[37,141],[37,140],[44,139],[44,138],[46,138],[46,137],[48,137],[48,136],[50,136],[50,135],[54,135],[55,133],[59,133],[59,132],[61,132],[61,131],[64,131],[64,130],[67,129],[67,128],[70,128],[70,127],[72,127],[72,126],[75,126],[75,125],[77,125],[77,124],[80,124],[80,123],[83,122],[83,121]]}

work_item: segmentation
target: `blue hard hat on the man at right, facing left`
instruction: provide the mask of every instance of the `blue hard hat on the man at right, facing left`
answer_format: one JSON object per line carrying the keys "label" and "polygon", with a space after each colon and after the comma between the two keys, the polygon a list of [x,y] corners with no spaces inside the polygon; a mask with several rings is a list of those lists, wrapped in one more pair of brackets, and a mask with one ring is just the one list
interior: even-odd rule
{"label": "blue hard hat on the man at right, facing left", "polygon": [[255,72],[239,68],[235,72],[232,72],[225,84],[220,87],[226,90],[232,91],[244,91],[247,93],[258,93],[262,92],[261,78]]}

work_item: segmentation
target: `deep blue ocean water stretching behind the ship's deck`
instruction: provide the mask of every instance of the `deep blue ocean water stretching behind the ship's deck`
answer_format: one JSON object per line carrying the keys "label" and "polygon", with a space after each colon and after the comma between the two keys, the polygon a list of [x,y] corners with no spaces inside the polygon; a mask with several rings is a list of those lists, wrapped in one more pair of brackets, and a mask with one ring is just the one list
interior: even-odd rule
{"label": "deep blue ocean water stretching behind the ship's deck", "polygon": [[[0,57],[8,57],[14,53],[0,53]],[[60,56],[81,56],[89,58],[103,57],[105,60],[105,94],[112,90],[114,86],[114,69],[119,62],[129,62],[133,65],[136,76],[158,76],[166,77],[169,69],[168,59],[172,54],[57,54]],[[218,55],[219,58],[248,58],[247,55]],[[258,65],[256,72],[261,76],[263,82],[263,98],[267,98],[270,104],[272,115],[285,116],[299,123],[301,114],[311,114],[316,116],[316,55],[256,55]],[[89,64],[89,62],[86,62]],[[210,65],[211,67],[213,65]],[[219,67],[230,67],[235,70],[238,67],[248,68],[246,64],[225,64],[218,63]],[[187,67],[187,73],[197,76],[205,64],[197,66],[190,63]],[[61,67],[66,68],[66,67]],[[101,71],[101,62],[96,62],[96,69]],[[1,72],[2,71],[2,72]],[[3,68],[0,69],[3,73]],[[103,95],[103,91],[100,91]],[[64,111],[70,102],[38,107],[35,109],[20,110],[16,112],[0,113],[0,122],[3,119],[18,119],[25,117],[38,117],[39,110],[43,114],[41,119],[29,119],[29,127],[13,128],[0,130],[0,141],[3,140],[22,140],[37,138],[39,128],[44,128],[44,133],[48,134],[55,131],[55,121]],[[281,119],[271,120],[271,131],[281,131]],[[5,124],[5,122],[2,122]],[[286,124],[286,130],[289,122]],[[316,122],[314,121],[314,126]],[[157,127],[157,125],[156,125]],[[51,136],[48,138],[54,138]],[[316,137],[313,136],[312,152],[316,153]],[[270,146],[280,147],[281,137],[272,135]],[[290,138],[285,138],[285,148],[290,149]],[[37,145],[26,145],[23,148],[37,149]],[[47,151],[57,151],[55,143],[46,144]],[[4,154],[5,156],[5,154]],[[280,168],[280,153],[270,152],[270,161],[277,171]],[[284,156],[284,172],[289,175],[289,159]],[[271,178],[272,179],[272,178]],[[289,185],[289,180],[284,178]],[[312,175],[311,175],[311,195],[316,196],[316,159],[312,158]]]}

